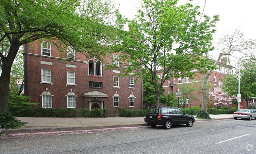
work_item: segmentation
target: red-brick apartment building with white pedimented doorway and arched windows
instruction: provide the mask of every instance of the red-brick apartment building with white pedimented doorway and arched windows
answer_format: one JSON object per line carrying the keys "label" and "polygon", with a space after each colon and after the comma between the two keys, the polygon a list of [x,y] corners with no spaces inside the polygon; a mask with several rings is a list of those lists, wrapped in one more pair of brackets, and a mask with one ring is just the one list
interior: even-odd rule
{"label": "red-brick apartment building with white pedimented doorway and arched windows", "polygon": [[[105,70],[106,64],[96,59],[75,53],[71,47],[67,55],[61,54],[44,40],[29,43],[28,48],[25,45],[23,54],[24,95],[31,97],[31,103],[45,108],[108,108],[110,115],[121,107],[141,109],[141,80],[120,79],[118,73],[125,67],[119,61],[114,61],[114,69]],[[105,60],[112,64],[112,59]]]}

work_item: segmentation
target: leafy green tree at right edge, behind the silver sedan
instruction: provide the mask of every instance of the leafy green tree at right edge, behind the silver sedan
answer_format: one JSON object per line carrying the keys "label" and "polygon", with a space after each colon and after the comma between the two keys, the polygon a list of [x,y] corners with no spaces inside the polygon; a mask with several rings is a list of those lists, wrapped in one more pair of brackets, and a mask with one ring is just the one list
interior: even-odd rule
{"label": "leafy green tree at right edge, behind the silver sedan", "polygon": [[[251,56],[249,60],[239,61],[240,65],[240,94],[241,98],[246,101],[246,108],[251,97],[256,96],[256,59]],[[229,95],[238,94],[239,72],[236,70],[234,74],[228,74],[224,77],[224,91]]]}

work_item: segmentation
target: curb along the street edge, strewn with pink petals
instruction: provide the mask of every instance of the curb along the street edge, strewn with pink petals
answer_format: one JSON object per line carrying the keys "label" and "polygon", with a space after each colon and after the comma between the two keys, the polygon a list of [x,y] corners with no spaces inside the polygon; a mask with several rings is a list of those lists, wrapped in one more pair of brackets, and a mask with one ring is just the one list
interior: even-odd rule
{"label": "curb along the street edge, strewn with pink petals", "polygon": [[[215,118],[215,119],[196,119],[195,122],[200,121],[215,121],[215,120],[226,120],[234,119],[229,118]],[[103,128],[120,128],[120,127],[139,127],[139,126],[149,126],[145,124],[130,124],[130,125],[108,125],[108,126],[87,126],[87,127],[41,127],[41,128],[20,128],[20,129],[4,129],[2,134],[20,134],[20,133],[39,133],[39,132],[65,132],[65,131],[76,131],[76,130],[93,130],[93,129],[103,129]]]}

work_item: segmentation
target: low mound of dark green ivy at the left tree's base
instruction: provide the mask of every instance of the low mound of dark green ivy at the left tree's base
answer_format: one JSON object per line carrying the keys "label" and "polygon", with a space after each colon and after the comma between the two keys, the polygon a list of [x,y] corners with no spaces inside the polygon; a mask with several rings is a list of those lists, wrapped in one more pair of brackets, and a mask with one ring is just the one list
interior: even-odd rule
{"label": "low mound of dark green ivy at the left tree's base", "polygon": [[0,123],[1,123],[1,127],[6,129],[21,128],[26,125],[26,123],[16,119],[13,115],[11,115],[8,112],[4,112],[0,114]]}

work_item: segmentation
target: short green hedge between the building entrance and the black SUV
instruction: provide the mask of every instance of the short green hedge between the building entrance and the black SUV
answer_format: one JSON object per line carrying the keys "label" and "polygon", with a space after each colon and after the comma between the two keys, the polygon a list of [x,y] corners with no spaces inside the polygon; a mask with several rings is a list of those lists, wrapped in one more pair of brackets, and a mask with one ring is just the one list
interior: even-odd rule
{"label": "short green hedge between the building entrance and the black SUV", "polygon": [[120,117],[144,117],[148,110],[127,110],[125,108],[120,108],[118,110]]}

